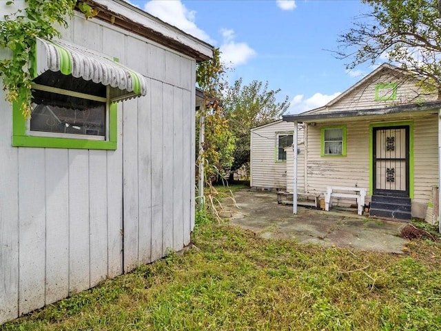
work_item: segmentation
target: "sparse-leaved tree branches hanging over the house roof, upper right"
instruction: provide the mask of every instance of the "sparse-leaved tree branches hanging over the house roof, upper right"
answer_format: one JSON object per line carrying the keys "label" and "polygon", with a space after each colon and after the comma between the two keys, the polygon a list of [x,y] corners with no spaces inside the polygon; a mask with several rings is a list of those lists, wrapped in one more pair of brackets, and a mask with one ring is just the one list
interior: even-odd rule
{"label": "sparse-leaved tree branches hanging over the house roof, upper right", "polygon": [[371,10],[340,35],[337,57],[348,69],[387,57],[441,99],[441,1],[362,0]]}

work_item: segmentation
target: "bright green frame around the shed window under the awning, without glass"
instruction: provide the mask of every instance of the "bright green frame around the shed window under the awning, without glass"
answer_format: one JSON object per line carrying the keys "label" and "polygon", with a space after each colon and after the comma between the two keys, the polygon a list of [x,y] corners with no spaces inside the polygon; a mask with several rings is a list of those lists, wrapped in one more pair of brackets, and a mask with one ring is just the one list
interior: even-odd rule
{"label": "bright green frame around the shed window under the awning, without glass", "polygon": [[[80,97],[88,97],[88,94],[76,93],[70,90],[61,90],[50,86],[39,86],[49,92],[57,92],[66,95],[76,94]],[[30,132],[30,119],[25,119],[21,114],[20,102],[12,104],[12,146],[15,147],[39,147],[39,148],[76,148],[89,150],[116,150],[117,145],[117,105],[110,103],[109,89],[107,88],[105,102],[105,125],[106,134],[103,140],[96,140],[96,136],[75,137],[74,134],[47,134],[39,132],[38,135]],[[96,98],[92,95],[89,97]]]}

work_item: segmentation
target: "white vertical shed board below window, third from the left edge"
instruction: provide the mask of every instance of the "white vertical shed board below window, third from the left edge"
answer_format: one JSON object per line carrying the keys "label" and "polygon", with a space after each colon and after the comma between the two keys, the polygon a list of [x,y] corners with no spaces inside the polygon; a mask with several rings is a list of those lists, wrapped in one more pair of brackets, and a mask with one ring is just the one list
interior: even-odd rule
{"label": "white vertical shed board below window, third from the left edge", "polygon": [[68,150],[45,150],[46,288],[45,303],[69,294]]}

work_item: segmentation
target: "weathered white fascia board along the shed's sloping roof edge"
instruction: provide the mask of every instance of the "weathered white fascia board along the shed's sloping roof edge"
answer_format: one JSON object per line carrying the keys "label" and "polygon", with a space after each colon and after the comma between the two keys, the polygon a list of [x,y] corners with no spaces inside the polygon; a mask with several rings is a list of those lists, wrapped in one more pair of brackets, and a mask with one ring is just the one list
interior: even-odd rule
{"label": "weathered white fascia board along the shed's sloping roof edge", "polygon": [[99,9],[96,16],[103,21],[114,19],[113,24],[125,30],[131,30],[157,43],[179,50],[184,54],[205,61],[213,57],[213,46],[193,37],[178,28],[132,6],[123,0],[90,0],[92,6]]}

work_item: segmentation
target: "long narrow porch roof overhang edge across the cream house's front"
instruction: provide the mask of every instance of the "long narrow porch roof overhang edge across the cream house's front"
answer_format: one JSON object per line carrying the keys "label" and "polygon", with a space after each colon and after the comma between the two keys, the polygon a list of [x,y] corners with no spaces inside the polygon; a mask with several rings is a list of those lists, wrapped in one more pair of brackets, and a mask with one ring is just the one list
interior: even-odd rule
{"label": "long narrow porch roof overhang edge across the cream house's front", "polygon": [[283,116],[283,121],[288,122],[312,122],[312,121],[335,121],[336,119],[341,120],[353,120],[360,119],[360,117],[378,117],[383,115],[400,115],[409,116],[419,112],[427,112],[429,110],[441,109],[441,101],[431,101],[425,103],[412,103],[402,106],[393,106],[388,108],[371,108],[371,109],[361,109],[361,110],[344,110],[338,112],[322,112],[319,114],[302,113],[302,114],[288,114]]}

